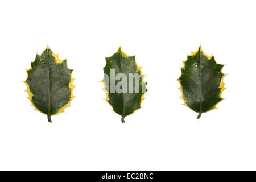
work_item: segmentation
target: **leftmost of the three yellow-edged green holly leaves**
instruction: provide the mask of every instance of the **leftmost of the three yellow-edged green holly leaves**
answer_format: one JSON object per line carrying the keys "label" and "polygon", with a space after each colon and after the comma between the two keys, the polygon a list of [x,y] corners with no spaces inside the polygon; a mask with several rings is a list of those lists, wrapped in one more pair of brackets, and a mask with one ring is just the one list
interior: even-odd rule
{"label": "leftmost of the three yellow-edged green holly leaves", "polygon": [[60,60],[47,46],[41,55],[36,54],[35,61],[27,70],[26,92],[35,110],[47,115],[62,113],[70,106],[73,96],[74,79],[67,60]]}

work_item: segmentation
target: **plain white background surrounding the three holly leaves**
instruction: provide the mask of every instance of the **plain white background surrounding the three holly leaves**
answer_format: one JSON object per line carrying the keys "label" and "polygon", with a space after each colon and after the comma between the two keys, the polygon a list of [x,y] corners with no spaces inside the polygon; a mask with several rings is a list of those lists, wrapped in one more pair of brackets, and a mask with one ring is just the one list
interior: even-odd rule
{"label": "plain white background surrounding the three holly leaves", "polygon": [[[255,1],[1,1],[0,169],[256,169]],[[26,98],[25,69],[47,44],[73,71],[72,107],[52,117]],[[202,46],[228,73],[218,109],[179,96],[180,67]],[[147,74],[142,109],[104,100],[118,47]]]}

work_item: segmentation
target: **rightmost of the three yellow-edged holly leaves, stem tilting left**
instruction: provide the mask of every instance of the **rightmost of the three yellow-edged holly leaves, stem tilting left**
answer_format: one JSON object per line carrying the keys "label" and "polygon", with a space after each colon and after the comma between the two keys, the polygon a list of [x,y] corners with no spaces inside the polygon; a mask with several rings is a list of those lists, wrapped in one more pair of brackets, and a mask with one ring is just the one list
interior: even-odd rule
{"label": "rightmost of the three yellow-edged holly leaves, stem tilting left", "polygon": [[201,46],[188,55],[183,64],[177,80],[181,98],[184,105],[199,113],[199,119],[202,113],[216,109],[218,102],[223,100],[221,94],[226,89],[223,82],[226,74],[222,73],[224,65],[217,64],[213,56],[207,56]]}

